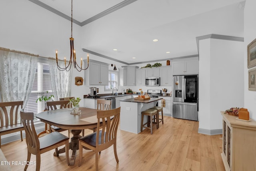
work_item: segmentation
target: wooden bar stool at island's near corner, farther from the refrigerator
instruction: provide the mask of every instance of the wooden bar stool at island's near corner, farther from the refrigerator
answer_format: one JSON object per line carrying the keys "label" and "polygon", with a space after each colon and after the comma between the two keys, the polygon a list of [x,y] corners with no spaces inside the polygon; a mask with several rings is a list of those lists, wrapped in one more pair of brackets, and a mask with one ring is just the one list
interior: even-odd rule
{"label": "wooden bar stool at island's near corner, farther from the refrigerator", "polygon": [[[143,124],[144,115],[147,115],[148,117],[150,117],[150,119],[147,119],[147,122]],[[147,110],[141,112],[141,126],[140,126],[140,131],[141,132],[142,132],[142,128],[144,127],[144,128],[150,129],[151,134],[152,134],[153,124],[155,124],[154,127],[156,126],[156,129],[158,129],[159,123],[154,122],[153,116],[155,116],[156,119],[158,120],[158,110],[156,110],[156,109],[147,109]],[[147,124],[147,126],[144,126],[146,124]],[[149,127],[148,124],[150,124],[150,127]]]}

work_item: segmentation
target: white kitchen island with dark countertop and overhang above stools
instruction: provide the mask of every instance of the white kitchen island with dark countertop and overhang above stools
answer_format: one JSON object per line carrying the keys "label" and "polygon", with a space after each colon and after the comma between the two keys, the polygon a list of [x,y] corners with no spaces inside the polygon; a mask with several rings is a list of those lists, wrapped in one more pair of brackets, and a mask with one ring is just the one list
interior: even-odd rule
{"label": "white kitchen island with dark countertop and overhang above stools", "polygon": [[[141,112],[154,107],[158,100],[162,98],[151,97],[147,100],[137,100],[134,98],[120,100],[120,129],[132,133],[140,133]],[[147,116],[144,116],[146,123]],[[145,129],[145,128],[144,128]]]}

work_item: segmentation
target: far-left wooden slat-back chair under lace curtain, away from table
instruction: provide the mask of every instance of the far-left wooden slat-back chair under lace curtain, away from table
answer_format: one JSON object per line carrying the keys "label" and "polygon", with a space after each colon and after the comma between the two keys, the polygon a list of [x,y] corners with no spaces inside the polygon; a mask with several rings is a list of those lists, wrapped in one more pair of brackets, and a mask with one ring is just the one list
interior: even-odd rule
{"label": "far-left wooden slat-back chair under lace curtain, away from table", "polygon": [[1,135],[20,131],[20,139],[23,141],[22,130],[24,127],[19,117],[22,106],[23,101],[0,102],[0,148]]}

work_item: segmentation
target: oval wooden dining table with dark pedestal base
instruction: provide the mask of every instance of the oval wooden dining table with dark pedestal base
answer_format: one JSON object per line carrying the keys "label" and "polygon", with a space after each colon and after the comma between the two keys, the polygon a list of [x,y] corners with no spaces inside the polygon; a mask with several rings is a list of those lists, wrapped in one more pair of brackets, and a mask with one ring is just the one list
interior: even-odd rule
{"label": "oval wooden dining table with dark pedestal base", "polygon": [[[98,109],[90,109],[79,107],[81,115],[72,115],[71,108],[55,109],[38,113],[36,117],[42,122],[54,125],[62,129],[70,129],[73,137],[71,137],[69,148],[72,149],[72,157],[70,165],[74,165],[76,159],[76,151],[78,148],[78,139],[82,129],[94,129],[97,127],[97,111]],[[64,153],[65,148],[59,149],[54,155]]]}

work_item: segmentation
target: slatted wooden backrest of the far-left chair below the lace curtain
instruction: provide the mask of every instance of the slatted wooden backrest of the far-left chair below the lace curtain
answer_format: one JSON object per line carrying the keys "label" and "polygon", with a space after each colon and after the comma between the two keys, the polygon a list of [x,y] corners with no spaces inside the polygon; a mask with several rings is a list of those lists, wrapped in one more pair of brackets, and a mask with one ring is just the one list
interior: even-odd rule
{"label": "slatted wooden backrest of the far-left chair below the lace curtain", "polygon": [[[0,127],[17,124],[19,110],[23,107],[23,101],[9,101],[0,103]],[[21,123],[21,122],[19,122]]]}

